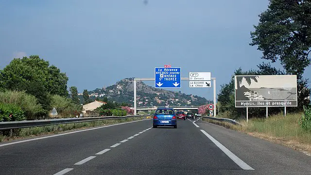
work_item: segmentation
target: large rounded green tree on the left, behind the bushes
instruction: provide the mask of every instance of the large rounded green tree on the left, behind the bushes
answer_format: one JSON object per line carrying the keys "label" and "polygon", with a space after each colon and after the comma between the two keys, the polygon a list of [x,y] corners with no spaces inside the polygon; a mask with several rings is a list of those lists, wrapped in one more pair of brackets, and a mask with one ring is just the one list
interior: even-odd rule
{"label": "large rounded green tree on the left, behind the bushes", "polygon": [[0,70],[0,89],[26,90],[46,110],[50,110],[50,95],[68,96],[67,81],[65,73],[38,55],[15,58]]}

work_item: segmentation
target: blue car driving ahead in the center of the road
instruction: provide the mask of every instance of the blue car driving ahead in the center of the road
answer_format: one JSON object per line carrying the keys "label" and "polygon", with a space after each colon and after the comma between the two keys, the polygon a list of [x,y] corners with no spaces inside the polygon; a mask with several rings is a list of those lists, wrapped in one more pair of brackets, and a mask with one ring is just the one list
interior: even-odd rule
{"label": "blue car driving ahead in the center of the road", "polygon": [[155,111],[153,126],[173,126],[177,128],[177,118],[173,108],[159,107]]}

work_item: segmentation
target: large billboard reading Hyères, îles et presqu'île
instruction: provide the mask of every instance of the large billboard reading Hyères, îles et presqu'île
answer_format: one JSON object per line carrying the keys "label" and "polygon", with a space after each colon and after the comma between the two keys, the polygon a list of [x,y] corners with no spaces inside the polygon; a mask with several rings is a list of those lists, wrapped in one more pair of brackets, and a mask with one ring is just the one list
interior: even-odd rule
{"label": "large billboard reading Hy\u00e8res, \u00eeles et presqu'\u00eele", "polygon": [[296,75],[236,75],[235,107],[297,106]]}

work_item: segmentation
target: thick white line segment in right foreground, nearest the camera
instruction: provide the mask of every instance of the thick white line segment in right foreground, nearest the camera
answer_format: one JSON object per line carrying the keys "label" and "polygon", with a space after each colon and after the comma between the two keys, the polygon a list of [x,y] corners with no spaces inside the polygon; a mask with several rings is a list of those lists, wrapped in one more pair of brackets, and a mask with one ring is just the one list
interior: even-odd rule
{"label": "thick white line segment in right foreground, nearest the camera", "polygon": [[252,167],[247,165],[243,160],[241,160],[239,157],[234,155],[230,150],[228,150],[224,145],[222,145],[219,141],[214,139],[211,135],[209,135],[206,131],[201,129],[201,132],[207,136],[209,140],[211,140],[213,143],[218,146],[229,158],[231,158],[237,165],[239,165],[243,170],[254,170]]}

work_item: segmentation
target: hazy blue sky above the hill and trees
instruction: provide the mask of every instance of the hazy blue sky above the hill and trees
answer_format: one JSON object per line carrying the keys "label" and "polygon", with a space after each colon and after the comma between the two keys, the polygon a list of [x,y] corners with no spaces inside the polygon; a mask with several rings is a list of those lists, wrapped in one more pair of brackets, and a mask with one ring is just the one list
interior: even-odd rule
{"label": "hazy blue sky above the hill and trees", "polygon": [[[249,43],[268,0],[147,2],[0,0],[0,69],[15,57],[39,55],[82,92],[129,77],[153,78],[155,67],[172,65],[181,67],[182,77],[211,72],[218,93],[234,70],[265,61]],[[310,67],[304,77],[311,78]],[[189,88],[187,81],[168,90],[213,99],[212,88]]]}

